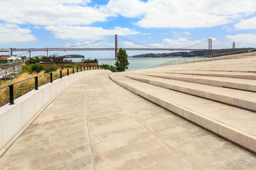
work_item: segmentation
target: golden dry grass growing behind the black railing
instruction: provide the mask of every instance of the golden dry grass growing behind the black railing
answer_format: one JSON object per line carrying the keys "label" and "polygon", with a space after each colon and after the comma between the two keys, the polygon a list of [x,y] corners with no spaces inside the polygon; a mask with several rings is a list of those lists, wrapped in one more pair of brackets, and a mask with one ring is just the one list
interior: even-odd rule
{"label": "golden dry grass growing behind the black railing", "polygon": [[[94,67],[93,69],[97,69],[97,67]],[[86,67],[86,70],[88,70],[87,67]],[[78,71],[79,72],[81,71],[80,68],[78,69]],[[84,68],[83,68],[83,71],[84,71]],[[63,69],[61,72],[62,72],[62,76],[67,76],[67,69]],[[74,69],[74,72],[76,73],[77,70]],[[73,73],[72,68],[68,70],[68,73],[69,74]],[[10,85],[17,81],[22,81],[27,78],[31,78],[33,76],[40,75],[40,74],[44,74],[44,71],[41,71],[40,73],[33,73],[33,74],[23,73],[23,74],[20,74],[20,76],[13,78],[12,80],[2,81],[2,82],[0,81],[0,87],[4,87],[5,85]],[[60,70],[57,70],[56,72],[52,73],[53,80],[56,80],[58,78],[60,78]],[[50,82],[50,74],[46,74],[44,76],[38,76],[38,87],[49,82]],[[22,81],[20,83],[13,85],[14,99],[17,99],[18,97],[26,94],[27,92],[33,89],[35,89],[35,80],[33,78],[31,80]],[[4,89],[1,89],[0,90],[0,106],[3,106],[4,104],[9,103],[10,102],[9,97],[10,97],[9,88],[6,87]]]}

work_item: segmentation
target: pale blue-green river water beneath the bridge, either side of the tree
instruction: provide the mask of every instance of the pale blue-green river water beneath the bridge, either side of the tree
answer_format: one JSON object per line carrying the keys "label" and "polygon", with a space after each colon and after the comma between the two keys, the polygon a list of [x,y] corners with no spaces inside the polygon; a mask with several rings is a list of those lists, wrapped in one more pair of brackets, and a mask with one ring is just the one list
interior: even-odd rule
{"label": "pale blue-green river water beneath the bridge, either side of the tree", "polygon": [[[175,57],[175,58],[128,58],[129,60],[129,68],[127,71],[136,70],[136,69],[147,69],[148,67],[157,66],[159,64],[163,64],[164,62],[168,62],[173,60],[176,63],[181,63],[182,61],[193,60],[193,58],[184,58],[184,57]],[[109,64],[115,66],[115,59],[98,59],[99,64]]]}

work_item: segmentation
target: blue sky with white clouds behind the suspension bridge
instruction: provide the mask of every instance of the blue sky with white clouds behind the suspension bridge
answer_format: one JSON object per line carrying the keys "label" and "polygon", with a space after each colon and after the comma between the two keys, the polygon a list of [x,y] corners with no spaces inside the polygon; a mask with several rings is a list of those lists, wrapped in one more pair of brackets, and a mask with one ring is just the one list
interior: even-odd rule
{"label": "blue sky with white clouds behind the suspension bridge", "polygon": [[[231,48],[232,41],[237,48],[256,48],[255,0],[0,0],[0,11],[0,48],[113,47],[113,37],[83,45],[115,34],[159,48],[196,44],[193,48],[208,48],[209,38],[215,49]],[[139,47],[118,37],[118,47],[125,46]],[[115,55],[112,51],[49,54],[53,53]]]}

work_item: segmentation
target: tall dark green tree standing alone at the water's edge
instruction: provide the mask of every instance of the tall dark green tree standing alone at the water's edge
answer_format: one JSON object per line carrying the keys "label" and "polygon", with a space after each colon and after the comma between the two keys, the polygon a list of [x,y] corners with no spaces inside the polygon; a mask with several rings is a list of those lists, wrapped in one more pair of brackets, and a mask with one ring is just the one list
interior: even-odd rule
{"label": "tall dark green tree standing alone at the water's edge", "polygon": [[120,48],[117,54],[117,60],[115,62],[116,70],[118,72],[125,71],[125,69],[128,69],[129,62],[127,58],[128,58],[128,55],[126,51]]}

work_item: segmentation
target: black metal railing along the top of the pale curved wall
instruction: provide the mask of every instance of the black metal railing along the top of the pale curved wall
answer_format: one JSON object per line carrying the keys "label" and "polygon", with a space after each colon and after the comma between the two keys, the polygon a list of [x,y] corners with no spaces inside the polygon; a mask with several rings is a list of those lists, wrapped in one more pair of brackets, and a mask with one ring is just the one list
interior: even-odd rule
{"label": "black metal railing along the top of the pale curved wall", "polygon": [[[84,70],[83,70],[84,69]],[[80,67],[80,72],[81,71],[86,71],[86,70],[93,70],[93,69],[102,69],[102,67],[98,67],[98,66],[88,66],[88,67]],[[53,79],[52,79],[52,73],[58,73],[60,72],[60,78],[62,78],[62,72],[63,70],[59,70],[59,71],[52,71],[50,73],[44,73],[44,74],[40,74],[40,75],[37,75],[37,76],[33,76],[31,78],[26,78],[25,80],[21,80],[21,81],[17,81],[15,83],[11,83],[9,85],[5,85],[3,87],[0,87],[0,90],[1,89],[4,89],[4,88],[7,88],[9,87],[9,98],[10,98],[10,104],[14,104],[14,90],[13,90],[13,85],[17,84],[17,83],[21,83],[21,82],[24,82],[24,81],[28,81],[28,80],[32,80],[34,79],[35,80],[35,90],[38,90],[38,77],[39,76],[45,76],[45,75],[48,75],[50,74],[50,82],[49,83],[52,83],[53,82]],[[76,73],[79,72],[79,67],[76,67]],[[74,67],[72,69],[72,74],[74,74],[75,71],[74,71]],[[67,69],[67,76],[69,76],[69,69]],[[58,79],[58,78],[57,78]],[[45,83],[47,84],[47,83]]]}

